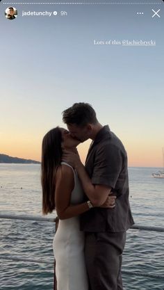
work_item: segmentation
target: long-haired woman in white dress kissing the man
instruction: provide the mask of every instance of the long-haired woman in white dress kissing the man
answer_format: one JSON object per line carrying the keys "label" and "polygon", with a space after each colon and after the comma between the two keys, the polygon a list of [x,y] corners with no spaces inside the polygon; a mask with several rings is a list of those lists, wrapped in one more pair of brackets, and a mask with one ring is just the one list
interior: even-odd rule
{"label": "long-haired woman in white dress kissing the man", "polygon": [[[61,161],[62,148],[76,152],[79,143],[60,127],[51,129],[42,140],[42,211],[48,214],[56,209],[60,219],[54,237],[58,290],[88,290],[79,215],[90,207],[83,202],[83,188],[76,171]],[[110,196],[102,207],[111,208],[114,203],[115,197]]]}

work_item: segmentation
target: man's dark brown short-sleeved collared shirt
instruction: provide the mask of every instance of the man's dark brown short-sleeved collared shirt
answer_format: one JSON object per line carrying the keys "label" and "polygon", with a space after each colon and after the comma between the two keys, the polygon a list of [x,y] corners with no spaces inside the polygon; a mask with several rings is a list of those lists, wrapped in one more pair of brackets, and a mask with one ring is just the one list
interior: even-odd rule
{"label": "man's dark brown short-sleeved collared shirt", "polygon": [[85,161],[92,184],[106,185],[117,195],[114,209],[95,207],[81,215],[84,232],[124,232],[133,225],[124,146],[108,125],[97,134]]}

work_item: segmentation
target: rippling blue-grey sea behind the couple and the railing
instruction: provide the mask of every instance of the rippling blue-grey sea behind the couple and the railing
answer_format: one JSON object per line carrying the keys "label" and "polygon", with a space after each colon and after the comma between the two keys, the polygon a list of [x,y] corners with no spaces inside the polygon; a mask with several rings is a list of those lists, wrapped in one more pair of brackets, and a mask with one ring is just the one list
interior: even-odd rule
{"label": "rippling blue-grey sea behind the couple and the railing", "polygon": [[[164,179],[151,177],[159,169],[129,168],[129,200],[138,225],[164,226]],[[42,216],[40,165],[0,164],[0,210]],[[0,232],[0,290],[53,289],[54,223],[1,219]],[[51,263],[10,261],[5,256]],[[122,271],[124,290],[164,290],[164,233],[129,229]]]}

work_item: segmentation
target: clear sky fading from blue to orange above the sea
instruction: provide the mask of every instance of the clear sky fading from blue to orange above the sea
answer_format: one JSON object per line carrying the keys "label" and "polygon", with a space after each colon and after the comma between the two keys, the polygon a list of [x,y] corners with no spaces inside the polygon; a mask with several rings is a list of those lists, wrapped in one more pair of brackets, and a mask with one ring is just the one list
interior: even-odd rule
{"label": "clear sky fading from blue to orange above the sea", "polygon": [[[164,3],[83,2],[1,1],[0,153],[40,161],[65,108],[88,102],[124,143],[129,166],[162,167]],[[16,19],[6,19],[9,6]],[[83,162],[89,144],[78,147]]]}

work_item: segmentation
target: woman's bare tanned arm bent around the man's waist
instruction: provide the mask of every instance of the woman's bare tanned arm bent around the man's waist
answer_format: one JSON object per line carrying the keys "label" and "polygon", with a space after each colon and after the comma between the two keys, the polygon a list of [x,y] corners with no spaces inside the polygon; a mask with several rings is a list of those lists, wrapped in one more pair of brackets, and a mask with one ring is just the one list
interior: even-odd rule
{"label": "woman's bare tanned arm bent around the man's waist", "polygon": [[71,193],[74,189],[74,173],[69,166],[62,165],[56,172],[55,204],[60,220],[79,216],[90,210],[87,202],[71,205]]}

